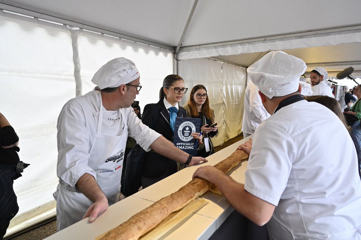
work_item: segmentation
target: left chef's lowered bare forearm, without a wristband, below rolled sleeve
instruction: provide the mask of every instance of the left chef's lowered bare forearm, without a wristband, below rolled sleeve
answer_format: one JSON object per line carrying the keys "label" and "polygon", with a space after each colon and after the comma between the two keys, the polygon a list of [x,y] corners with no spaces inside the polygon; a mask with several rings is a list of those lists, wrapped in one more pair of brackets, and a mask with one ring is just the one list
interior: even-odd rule
{"label": "left chef's lowered bare forearm, without a wristband, below rolled sleeve", "polygon": [[93,203],[100,200],[108,201],[95,178],[89,173],[83,174],[75,186]]}

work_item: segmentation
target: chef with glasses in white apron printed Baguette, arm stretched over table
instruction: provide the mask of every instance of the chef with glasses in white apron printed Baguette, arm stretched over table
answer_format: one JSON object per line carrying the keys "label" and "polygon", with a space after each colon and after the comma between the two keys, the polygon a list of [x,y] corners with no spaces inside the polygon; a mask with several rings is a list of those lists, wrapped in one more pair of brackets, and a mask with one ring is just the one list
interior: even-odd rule
{"label": "chef with glasses in white apron printed Baguette, arm stretched over table", "polygon": [[93,222],[119,201],[128,135],[145,150],[153,149],[186,165],[207,161],[179,150],[134,114],[130,105],[142,87],[134,62],[113,59],[91,81],[97,87],[70,99],[58,118],[59,184],[54,193],[58,231],[82,218]]}

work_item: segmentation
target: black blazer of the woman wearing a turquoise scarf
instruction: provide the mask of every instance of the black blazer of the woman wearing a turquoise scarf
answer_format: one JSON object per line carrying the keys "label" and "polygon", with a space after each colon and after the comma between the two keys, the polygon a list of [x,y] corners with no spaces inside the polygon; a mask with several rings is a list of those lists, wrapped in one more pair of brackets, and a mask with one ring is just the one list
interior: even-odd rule
{"label": "black blazer of the woman wearing a turquoise scarf", "polygon": [[[188,117],[186,110],[179,106],[177,117]],[[169,112],[164,106],[163,99],[157,103],[147,104],[144,107],[142,122],[162,134],[166,139],[173,142],[173,131],[169,124]],[[158,178],[168,172],[168,175],[177,172],[177,162],[157,154],[151,150],[145,154],[142,168],[142,176]],[[164,176],[168,177],[168,176]]]}

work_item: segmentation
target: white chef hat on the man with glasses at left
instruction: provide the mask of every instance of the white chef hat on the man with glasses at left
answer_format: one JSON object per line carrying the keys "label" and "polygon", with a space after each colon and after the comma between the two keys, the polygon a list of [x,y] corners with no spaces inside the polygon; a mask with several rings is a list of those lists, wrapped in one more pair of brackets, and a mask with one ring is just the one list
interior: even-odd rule
{"label": "white chef hat on the man with glasses at left", "polygon": [[99,88],[115,88],[140,76],[135,63],[126,58],[114,58],[94,74],[92,82]]}

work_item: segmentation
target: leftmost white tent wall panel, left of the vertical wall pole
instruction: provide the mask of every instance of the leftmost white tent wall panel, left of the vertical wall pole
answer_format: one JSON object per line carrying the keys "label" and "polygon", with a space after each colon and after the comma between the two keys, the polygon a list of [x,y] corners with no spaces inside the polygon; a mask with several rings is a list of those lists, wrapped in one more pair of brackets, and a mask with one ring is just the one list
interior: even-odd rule
{"label": "leftmost white tent wall panel, left of the vertical wall pole", "polygon": [[14,181],[21,214],[56,190],[56,121],[75,92],[70,32],[4,16],[0,32],[0,111],[20,138],[20,160],[31,164]]}

